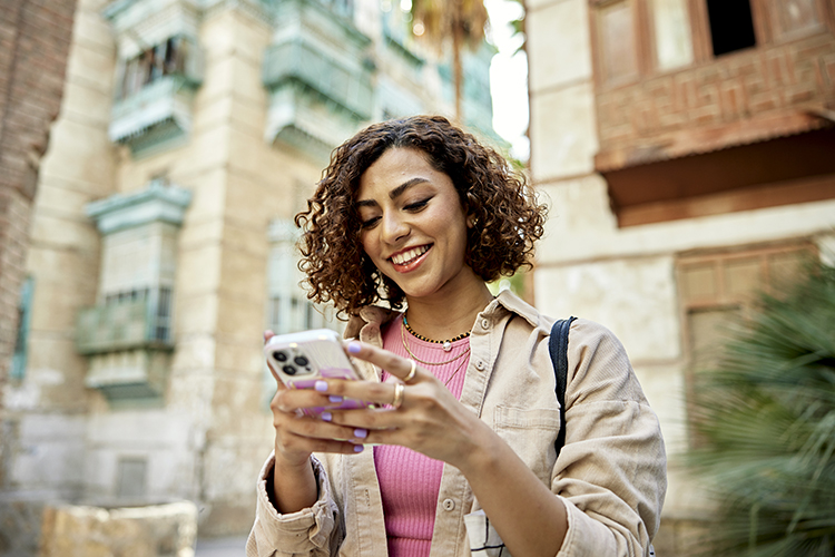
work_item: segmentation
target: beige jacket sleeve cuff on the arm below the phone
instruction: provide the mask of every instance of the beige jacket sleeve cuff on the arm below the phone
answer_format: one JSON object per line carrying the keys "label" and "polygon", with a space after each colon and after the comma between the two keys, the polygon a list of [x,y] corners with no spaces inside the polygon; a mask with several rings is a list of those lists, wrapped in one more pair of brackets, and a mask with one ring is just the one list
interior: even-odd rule
{"label": "beige jacket sleeve cuff on the arm below the phone", "polygon": [[338,551],[344,537],[340,510],[322,463],[311,457],[318,483],[318,500],[313,507],[281,515],[267,496],[275,467],[271,455],[257,482],[255,524],[246,541],[247,557],[330,557]]}

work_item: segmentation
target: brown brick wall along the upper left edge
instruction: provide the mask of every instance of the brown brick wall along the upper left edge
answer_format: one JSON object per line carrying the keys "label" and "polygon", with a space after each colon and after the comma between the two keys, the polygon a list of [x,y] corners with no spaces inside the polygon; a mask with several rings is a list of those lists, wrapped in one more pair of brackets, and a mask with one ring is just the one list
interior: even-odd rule
{"label": "brown brick wall along the upper left edge", "polygon": [[0,387],[14,346],[31,203],[63,94],[75,6],[9,0],[0,11]]}

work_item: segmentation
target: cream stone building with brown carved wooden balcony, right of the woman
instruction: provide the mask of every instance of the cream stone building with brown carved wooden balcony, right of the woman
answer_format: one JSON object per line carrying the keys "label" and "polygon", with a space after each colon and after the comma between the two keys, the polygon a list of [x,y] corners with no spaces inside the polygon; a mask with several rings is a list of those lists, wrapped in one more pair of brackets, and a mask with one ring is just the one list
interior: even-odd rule
{"label": "cream stone building with brown carved wooden balcony, right of the woman", "polygon": [[835,258],[835,3],[527,8],[536,302],[626,345],[670,455],[656,548],[687,555],[709,516],[677,467],[689,378],[754,292]]}

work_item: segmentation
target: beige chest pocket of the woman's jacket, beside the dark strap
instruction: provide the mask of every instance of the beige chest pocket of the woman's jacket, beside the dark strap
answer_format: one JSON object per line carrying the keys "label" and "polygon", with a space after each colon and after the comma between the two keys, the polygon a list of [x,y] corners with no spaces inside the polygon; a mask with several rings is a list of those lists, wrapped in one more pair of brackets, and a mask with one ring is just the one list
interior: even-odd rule
{"label": "beige chest pocket of the woman's jacket, beside the dark strap", "polygon": [[560,430],[558,409],[499,405],[493,414],[493,430],[546,486],[551,486],[557,460],[553,442]]}

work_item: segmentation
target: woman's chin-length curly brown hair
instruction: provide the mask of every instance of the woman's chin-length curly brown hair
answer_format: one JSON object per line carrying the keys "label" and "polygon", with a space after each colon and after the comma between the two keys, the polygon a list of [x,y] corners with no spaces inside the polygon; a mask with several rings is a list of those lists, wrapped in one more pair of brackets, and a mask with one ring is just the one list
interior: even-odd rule
{"label": "woman's chin-length curly brown hair", "polygon": [[403,306],[404,294],[365,255],[360,243],[360,215],[354,204],[360,177],[383,153],[415,148],[446,174],[461,206],[474,217],[468,228],[464,262],[485,282],[531,266],[533,243],[542,236],[546,206],[524,176],[490,147],[441,116],[414,116],[374,124],[331,155],[307,209],[295,217],[306,273],[307,297],[332,302],[340,314],[385,300]]}

